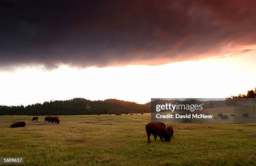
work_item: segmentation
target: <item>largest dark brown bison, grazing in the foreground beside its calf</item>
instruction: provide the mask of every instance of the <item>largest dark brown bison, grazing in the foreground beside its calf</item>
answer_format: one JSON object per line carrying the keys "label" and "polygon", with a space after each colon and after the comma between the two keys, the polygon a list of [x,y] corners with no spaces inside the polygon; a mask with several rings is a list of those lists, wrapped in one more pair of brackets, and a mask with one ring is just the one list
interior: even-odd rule
{"label": "largest dark brown bison, grazing in the foreground beside its calf", "polygon": [[[171,134],[166,130],[166,126],[162,122],[149,123],[146,125],[146,132],[148,135],[148,143],[150,143],[150,135],[154,135],[154,139],[156,141],[156,137],[159,136],[161,141],[171,141]],[[164,140],[163,140],[164,138]]]}

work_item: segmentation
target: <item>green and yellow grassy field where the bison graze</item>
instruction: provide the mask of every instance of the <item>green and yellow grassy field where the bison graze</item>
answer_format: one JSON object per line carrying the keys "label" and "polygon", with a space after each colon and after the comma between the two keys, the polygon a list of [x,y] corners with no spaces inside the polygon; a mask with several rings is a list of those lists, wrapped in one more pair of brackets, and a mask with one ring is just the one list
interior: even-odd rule
{"label": "green and yellow grassy field where the bison graze", "polygon": [[[172,141],[148,144],[150,114],[59,116],[58,125],[32,117],[0,116],[0,157],[23,157],[22,166],[256,165],[256,124],[166,124]],[[15,121],[27,125],[10,128]]]}

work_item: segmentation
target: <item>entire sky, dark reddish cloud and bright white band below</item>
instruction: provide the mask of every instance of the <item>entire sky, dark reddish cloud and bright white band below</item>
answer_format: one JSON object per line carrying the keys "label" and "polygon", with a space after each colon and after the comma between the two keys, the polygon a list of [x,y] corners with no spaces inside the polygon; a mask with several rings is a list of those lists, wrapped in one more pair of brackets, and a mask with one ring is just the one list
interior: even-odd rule
{"label": "entire sky, dark reddish cloud and bright white band below", "polygon": [[256,87],[256,1],[0,0],[0,105]]}

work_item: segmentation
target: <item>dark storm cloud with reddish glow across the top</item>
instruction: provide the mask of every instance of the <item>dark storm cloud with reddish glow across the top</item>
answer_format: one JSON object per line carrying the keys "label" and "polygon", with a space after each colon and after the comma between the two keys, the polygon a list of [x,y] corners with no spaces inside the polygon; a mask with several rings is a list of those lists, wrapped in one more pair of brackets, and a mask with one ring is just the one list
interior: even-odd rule
{"label": "dark storm cloud with reddish glow across the top", "polygon": [[255,11],[256,1],[236,0],[0,0],[0,67],[223,55],[256,44]]}

